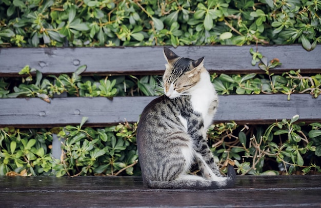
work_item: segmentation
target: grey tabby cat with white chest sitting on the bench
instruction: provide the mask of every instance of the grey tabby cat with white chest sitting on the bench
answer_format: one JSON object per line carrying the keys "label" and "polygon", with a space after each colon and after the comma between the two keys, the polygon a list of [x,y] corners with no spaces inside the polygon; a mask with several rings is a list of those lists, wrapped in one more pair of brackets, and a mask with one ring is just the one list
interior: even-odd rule
{"label": "grey tabby cat with white chest sitting on the bench", "polygon": [[[233,167],[223,177],[206,141],[218,97],[204,57],[179,57],[166,47],[164,56],[165,94],[145,107],[137,127],[143,182],[153,189],[230,188]],[[202,176],[188,174],[194,163]]]}

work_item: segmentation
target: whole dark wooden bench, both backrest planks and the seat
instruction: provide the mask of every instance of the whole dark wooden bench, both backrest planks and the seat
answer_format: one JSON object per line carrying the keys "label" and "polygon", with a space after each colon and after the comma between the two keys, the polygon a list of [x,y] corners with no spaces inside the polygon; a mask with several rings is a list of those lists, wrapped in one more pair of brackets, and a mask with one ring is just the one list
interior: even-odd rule
{"label": "whole dark wooden bench, both backrest planks and the seat", "polygon": [[[218,74],[264,73],[251,65],[250,48],[255,46],[186,46],[173,49],[183,57],[205,56],[205,67]],[[18,76],[29,65],[44,75],[73,73],[87,65],[82,75],[161,75],[163,47],[124,48],[3,48],[0,49],[0,77]],[[268,59],[278,58],[283,73],[321,73],[321,47],[307,52],[302,46],[259,46]],[[63,127],[79,124],[105,127],[119,122],[136,122],[154,97],[54,97],[47,103],[39,98],[0,99],[0,128]],[[215,122],[268,124],[276,119],[321,121],[321,98],[309,94],[219,96]],[[35,108],[36,107],[36,108]],[[321,177],[238,176],[229,190],[148,190],[141,177],[0,177],[0,206],[321,206]]]}

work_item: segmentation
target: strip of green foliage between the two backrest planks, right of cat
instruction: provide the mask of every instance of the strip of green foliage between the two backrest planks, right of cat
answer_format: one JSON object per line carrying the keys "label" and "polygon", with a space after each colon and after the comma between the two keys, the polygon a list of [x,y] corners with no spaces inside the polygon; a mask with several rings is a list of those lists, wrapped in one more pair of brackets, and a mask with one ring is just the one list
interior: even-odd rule
{"label": "strip of green foliage between the two backrest planks, right of cat", "polygon": [[312,97],[320,95],[321,75],[303,76],[298,71],[285,72],[282,75],[270,75],[265,77],[262,74],[226,75],[220,74],[211,76],[213,85],[218,94],[273,94],[309,92]]}

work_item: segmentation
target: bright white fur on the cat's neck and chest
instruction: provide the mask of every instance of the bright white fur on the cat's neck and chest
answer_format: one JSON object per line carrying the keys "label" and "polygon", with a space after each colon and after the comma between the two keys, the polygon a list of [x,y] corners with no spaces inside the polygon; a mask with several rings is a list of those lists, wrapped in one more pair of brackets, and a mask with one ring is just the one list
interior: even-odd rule
{"label": "bright white fur on the cat's neck and chest", "polygon": [[200,74],[200,80],[189,92],[191,94],[191,102],[194,111],[202,114],[204,119],[204,127],[207,129],[213,121],[215,111],[210,111],[213,100],[217,100],[217,94],[210,80],[207,71]]}

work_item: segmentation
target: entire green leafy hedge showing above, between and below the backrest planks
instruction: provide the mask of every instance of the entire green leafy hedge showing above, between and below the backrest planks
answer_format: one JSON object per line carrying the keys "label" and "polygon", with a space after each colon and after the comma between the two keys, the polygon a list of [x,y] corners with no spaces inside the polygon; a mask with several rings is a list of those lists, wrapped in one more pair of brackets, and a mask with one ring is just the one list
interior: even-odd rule
{"label": "entire green leafy hedge showing above, between and below the backrest planks", "polygon": [[[95,47],[154,45],[302,44],[321,41],[321,1],[41,1],[0,0],[1,47]],[[265,74],[212,74],[219,94],[320,94],[320,74],[291,71],[273,75],[277,60],[249,51]],[[44,77],[26,66],[19,78],[0,78],[0,98],[158,95],[156,76]],[[35,75],[31,75],[34,72]],[[299,115],[269,125],[213,124],[209,145],[224,172],[239,174],[317,174],[321,124],[297,122]],[[139,175],[136,123],[106,128],[0,129],[0,175]],[[62,144],[53,158],[52,140]],[[197,174],[197,170],[193,170]]]}

